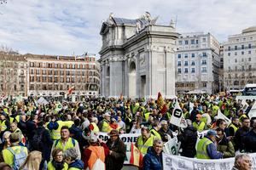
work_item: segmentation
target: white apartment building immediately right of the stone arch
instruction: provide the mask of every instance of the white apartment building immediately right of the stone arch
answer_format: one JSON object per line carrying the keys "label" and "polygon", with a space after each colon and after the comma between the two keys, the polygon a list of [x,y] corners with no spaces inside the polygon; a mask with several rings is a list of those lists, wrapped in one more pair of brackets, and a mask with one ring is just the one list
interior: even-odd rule
{"label": "white apartment building immediately right of the stone arch", "polygon": [[207,94],[219,90],[219,42],[203,32],[182,34],[177,39],[177,94],[199,89]]}

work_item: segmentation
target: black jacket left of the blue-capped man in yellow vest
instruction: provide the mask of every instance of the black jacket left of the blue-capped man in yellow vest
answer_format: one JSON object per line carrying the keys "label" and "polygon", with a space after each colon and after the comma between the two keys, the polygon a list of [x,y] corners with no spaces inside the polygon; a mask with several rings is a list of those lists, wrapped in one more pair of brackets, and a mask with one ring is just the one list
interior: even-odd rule
{"label": "black jacket left of the blue-capped man in yellow vest", "polygon": [[183,149],[181,155],[186,157],[195,157],[195,144],[197,140],[197,130],[195,127],[186,127],[182,134],[177,135]]}

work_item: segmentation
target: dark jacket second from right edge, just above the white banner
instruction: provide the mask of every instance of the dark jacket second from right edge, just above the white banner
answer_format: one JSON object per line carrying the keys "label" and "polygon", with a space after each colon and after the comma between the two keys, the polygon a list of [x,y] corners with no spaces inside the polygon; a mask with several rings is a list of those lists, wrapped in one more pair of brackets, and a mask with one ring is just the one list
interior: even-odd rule
{"label": "dark jacket second from right edge, just above the white banner", "polygon": [[244,150],[244,144],[241,139],[250,131],[250,128],[240,127],[235,134],[234,143],[235,150]]}

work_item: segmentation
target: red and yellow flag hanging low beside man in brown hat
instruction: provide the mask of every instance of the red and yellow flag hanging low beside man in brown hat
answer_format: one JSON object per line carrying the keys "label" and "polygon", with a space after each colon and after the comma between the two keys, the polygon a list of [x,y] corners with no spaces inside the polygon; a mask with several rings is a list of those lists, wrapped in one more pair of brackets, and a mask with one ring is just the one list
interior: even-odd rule
{"label": "red and yellow flag hanging low beside man in brown hat", "polygon": [[131,158],[130,164],[137,167],[143,167],[143,154],[134,144],[131,144]]}

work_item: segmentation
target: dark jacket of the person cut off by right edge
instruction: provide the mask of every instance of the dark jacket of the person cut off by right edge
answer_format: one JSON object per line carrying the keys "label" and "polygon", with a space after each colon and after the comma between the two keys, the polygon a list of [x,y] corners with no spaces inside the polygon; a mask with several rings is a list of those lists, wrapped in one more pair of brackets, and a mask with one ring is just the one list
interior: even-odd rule
{"label": "dark jacket of the person cut off by right edge", "polygon": [[244,144],[244,150],[246,152],[256,152],[256,133],[253,132],[253,129],[245,135],[242,139],[242,143]]}

